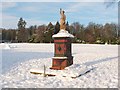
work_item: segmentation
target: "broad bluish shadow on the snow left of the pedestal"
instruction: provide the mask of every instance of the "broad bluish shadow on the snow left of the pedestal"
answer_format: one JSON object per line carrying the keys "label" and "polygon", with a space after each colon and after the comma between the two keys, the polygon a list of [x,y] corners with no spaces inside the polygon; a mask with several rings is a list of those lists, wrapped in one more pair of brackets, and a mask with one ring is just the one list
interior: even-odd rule
{"label": "broad bluish shadow on the snow left of the pedestal", "polygon": [[50,58],[52,52],[16,52],[11,50],[2,50],[2,73],[9,71],[11,67],[18,63],[31,59]]}

